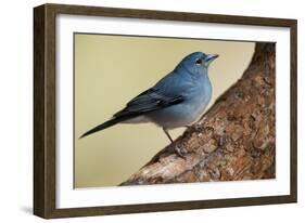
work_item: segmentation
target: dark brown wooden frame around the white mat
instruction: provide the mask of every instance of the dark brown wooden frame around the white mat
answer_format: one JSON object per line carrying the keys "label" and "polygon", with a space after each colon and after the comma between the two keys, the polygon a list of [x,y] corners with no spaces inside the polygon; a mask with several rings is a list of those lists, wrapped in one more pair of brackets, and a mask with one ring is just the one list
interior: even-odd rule
{"label": "dark brown wooden frame around the white mat", "polygon": [[[204,22],[288,27],[291,34],[290,195],[58,209],[55,206],[55,17],[58,14]],[[82,5],[43,4],[34,9],[34,214],[46,218],[88,217],[151,211],[296,202],[296,38],[295,19]]]}

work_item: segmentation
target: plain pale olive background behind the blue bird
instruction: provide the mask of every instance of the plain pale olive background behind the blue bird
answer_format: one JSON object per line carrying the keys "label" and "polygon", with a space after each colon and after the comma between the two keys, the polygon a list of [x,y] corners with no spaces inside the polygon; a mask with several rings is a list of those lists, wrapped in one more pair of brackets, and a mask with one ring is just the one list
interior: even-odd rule
{"label": "plain pale olive background behind the blue bird", "polygon": [[[169,144],[151,123],[117,124],[79,140],[194,51],[217,53],[209,106],[247,67],[253,42],[75,34],[75,187],[115,186]],[[185,129],[170,131],[177,137]]]}

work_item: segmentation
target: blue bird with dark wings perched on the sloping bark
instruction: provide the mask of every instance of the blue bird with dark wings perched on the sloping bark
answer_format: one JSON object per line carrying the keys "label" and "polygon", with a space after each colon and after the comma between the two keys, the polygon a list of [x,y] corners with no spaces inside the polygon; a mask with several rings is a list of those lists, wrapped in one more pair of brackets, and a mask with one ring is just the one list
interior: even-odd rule
{"label": "blue bird with dark wings perched on the sloping bark", "polygon": [[[208,66],[217,54],[194,52],[187,55],[175,69],[154,87],[142,92],[113,117],[87,131],[80,137],[110,128],[116,123],[153,122],[173,143],[168,130],[189,127],[199,120],[212,96]],[[182,157],[182,152],[176,146]]]}

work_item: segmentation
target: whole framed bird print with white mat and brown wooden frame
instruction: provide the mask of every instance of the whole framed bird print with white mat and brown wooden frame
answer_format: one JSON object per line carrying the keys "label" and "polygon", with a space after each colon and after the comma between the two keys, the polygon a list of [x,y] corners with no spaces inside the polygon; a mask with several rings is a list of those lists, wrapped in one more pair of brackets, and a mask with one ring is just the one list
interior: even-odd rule
{"label": "whole framed bird print with white mat and brown wooden frame", "polygon": [[35,214],[296,202],[296,21],[45,4],[34,43]]}

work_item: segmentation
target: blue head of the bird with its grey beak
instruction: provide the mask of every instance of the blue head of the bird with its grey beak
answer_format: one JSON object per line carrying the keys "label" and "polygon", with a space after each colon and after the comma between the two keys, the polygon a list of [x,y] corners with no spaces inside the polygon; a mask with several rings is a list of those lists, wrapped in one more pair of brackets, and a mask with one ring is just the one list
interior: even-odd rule
{"label": "blue head of the bird with its grey beak", "polygon": [[187,55],[176,68],[187,69],[191,74],[203,74],[207,71],[209,64],[217,58],[217,54],[205,54],[203,52],[194,52]]}

